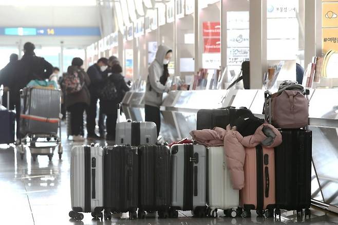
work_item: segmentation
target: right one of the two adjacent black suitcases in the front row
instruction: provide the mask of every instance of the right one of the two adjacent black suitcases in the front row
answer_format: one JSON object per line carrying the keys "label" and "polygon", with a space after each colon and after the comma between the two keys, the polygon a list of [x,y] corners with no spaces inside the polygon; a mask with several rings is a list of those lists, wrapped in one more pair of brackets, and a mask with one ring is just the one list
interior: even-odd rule
{"label": "right one of the two adjacent black suitcases in the front row", "polygon": [[139,156],[139,211],[158,211],[159,218],[168,217],[171,204],[171,154],[165,145],[141,145]]}

